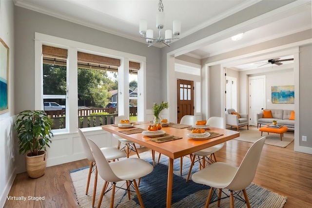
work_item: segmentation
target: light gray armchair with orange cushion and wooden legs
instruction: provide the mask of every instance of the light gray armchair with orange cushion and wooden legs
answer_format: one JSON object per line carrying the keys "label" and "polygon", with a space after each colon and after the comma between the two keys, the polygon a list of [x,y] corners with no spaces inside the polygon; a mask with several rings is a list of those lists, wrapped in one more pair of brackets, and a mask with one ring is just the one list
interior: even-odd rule
{"label": "light gray armchair with orange cushion and wooden legs", "polygon": [[249,118],[248,114],[237,113],[234,109],[228,109],[226,113],[226,125],[238,128],[242,126],[247,126],[248,130]]}

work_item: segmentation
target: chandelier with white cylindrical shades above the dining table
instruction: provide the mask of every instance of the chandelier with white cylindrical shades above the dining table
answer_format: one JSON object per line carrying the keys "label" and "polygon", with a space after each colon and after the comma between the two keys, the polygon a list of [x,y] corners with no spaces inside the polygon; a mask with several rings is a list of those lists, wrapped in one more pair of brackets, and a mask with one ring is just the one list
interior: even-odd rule
{"label": "chandelier with white cylindrical shades above the dining table", "polygon": [[[156,16],[156,28],[159,31],[159,36],[157,38],[153,37],[153,30],[147,29],[147,21],[146,19],[140,19],[140,38],[145,38],[146,42],[149,43],[149,46],[154,45],[155,43],[164,43],[165,45],[170,47],[170,42],[173,39],[178,39],[181,31],[181,22],[179,20],[174,20],[173,22],[173,31],[172,30],[166,30],[165,31],[165,38],[161,37],[161,29],[164,27],[164,20],[165,20],[165,14],[164,14],[164,6],[162,4],[162,0],[159,0],[158,2],[158,13]],[[175,35],[173,38],[172,35]]]}

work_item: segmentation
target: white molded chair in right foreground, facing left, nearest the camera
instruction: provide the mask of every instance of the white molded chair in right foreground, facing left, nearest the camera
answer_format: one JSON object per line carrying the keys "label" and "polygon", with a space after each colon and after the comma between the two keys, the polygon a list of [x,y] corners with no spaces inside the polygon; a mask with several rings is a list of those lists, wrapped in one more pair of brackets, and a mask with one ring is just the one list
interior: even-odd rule
{"label": "white molded chair in right foreground, facing left, nearest the camera", "polygon": [[[236,195],[241,191],[244,193],[247,207],[250,208],[246,188],[254,180],[265,139],[266,137],[262,137],[251,146],[238,168],[223,162],[216,162],[192,175],[192,180],[195,183],[211,187],[206,202],[206,208],[209,206],[214,188],[219,189],[218,199],[216,200],[218,201],[218,207],[220,207],[222,189],[229,189],[231,208],[234,208],[234,197],[237,198]],[[227,195],[227,197],[229,196]],[[242,197],[238,196],[238,198],[242,200]]]}

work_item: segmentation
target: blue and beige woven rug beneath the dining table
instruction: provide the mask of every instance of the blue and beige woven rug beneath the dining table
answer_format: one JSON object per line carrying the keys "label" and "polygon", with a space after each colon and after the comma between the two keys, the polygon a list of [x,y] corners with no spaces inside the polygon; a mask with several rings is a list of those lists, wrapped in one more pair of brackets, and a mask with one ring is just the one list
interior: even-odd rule
{"label": "blue and beige woven rug beneath the dining table", "polygon": [[[158,154],[156,154],[158,155]],[[136,157],[136,156],[133,156]],[[151,151],[140,153],[140,157],[152,163]],[[186,182],[191,161],[190,158],[183,158],[183,171],[180,175],[180,160],[174,161],[174,177],[172,189],[172,208],[201,208],[205,206],[210,187],[194,183],[192,180]],[[145,208],[165,208],[167,194],[167,172],[168,157],[161,155],[160,163],[155,166],[152,173],[141,178],[139,186],[141,197]],[[88,168],[71,171],[70,175],[76,190],[76,197],[80,208],[90,208],[92,206],[92,193],[94,174],[91,176],[88,195],[85,195],[87,184]],[[198,171],[195,164],[192,172]],[[98,206],[99,195],[103,187],[103,180],[98,176],[98,188],[95,206]],[[117,186],[125,187],[124,182],[118,182]],[[255,184],[251,184],[247,189],[247,194],[252,208],[282,208],[287,197],[281,196],[268,189],[264,189]],[[215,196],[213,196],[215,198]],[[101,208],[110,205],[111,191],[106,193],[101,203]],[[230,199],[221,200],[221,208],[228,208]],[[240,200],[234,201],[235,208],[245,208],[246,204]],[[127,193],[123,189],[116,189],[114,208],[139,208],[136,192],[131,192],[131,199],[128,200]],[[216,208],[216,202],[210,205]]]}

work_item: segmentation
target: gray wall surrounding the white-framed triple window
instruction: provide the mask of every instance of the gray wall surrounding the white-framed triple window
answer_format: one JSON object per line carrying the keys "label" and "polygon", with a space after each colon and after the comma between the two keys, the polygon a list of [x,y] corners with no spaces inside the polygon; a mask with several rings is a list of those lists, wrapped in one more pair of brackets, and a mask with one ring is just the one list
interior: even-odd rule
{"label": "gray wall surrounding the white-framed triple window", "polygon": [[159,94],[152,93],[160,85],[160,49],[147,47],[147,44],[122,38],[93,28],[81,26],[62,19],[44,15],[32,10],[15,6],[15,43],[16,43],[16,94],[15,113],[34,109],[35,106],[35,32],[97,45],[117,51],[146,57],[147,108],[153,102],[160,102]]}

